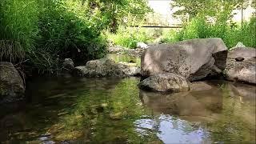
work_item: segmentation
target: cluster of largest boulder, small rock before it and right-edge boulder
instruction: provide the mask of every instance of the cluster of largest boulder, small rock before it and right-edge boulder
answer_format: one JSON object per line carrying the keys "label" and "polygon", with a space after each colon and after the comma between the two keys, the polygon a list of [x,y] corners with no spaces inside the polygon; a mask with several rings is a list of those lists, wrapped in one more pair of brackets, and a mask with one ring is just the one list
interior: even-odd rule
{"label": "cluster of largest boulder, small rock before it and right-edge boulder", "polygon": [[[181,92],[190,82],[225,76],[228,80],[256,84],[253,48],[234,48],[228,53],[221,38],[191,39],[152,46],[142,54],[139,87]],[[242,62],[241,62],[242,61]]]}

